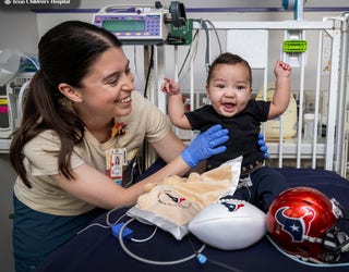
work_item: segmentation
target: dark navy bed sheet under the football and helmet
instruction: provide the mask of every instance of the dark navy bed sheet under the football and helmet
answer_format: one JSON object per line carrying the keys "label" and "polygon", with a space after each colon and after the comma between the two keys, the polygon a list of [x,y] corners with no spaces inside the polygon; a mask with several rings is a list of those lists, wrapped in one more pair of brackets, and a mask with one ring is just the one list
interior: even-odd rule
{"label": "dark navy bed sheet under the football and helmet", "polygon": [[[291,186],[310,186],[323,191],[327,197],[335,197],[349,211],[349,182],[340,175],[326,170],[278,169]],[[110,214],[109,221],[116,222],[129,208],[119,209]],[[123,217],[121,222],[130,218]],[[93,223],[106,225],[106,213],[98,217]],[[154,232],[154,226],[131,222],[128,227],[133,231],[134,238],[146,238]],[[349,228],[346,226],[346,233]],[[134,255],[154,261],[176,261],[193,256],[203,244],[193,235],[186,235],[182,240],[161,230],[145,243],[125,243],[127,248]],[[242,250],[225,251],[206,246],[202,254],[207,258],[201,264],[195,258],[171,265],[155,265],[139,261],[124,252],[119,240],[112,236],[110,228],[91,226],[80,233],[71,242],[53,252],[38,271],[84,271],[84,272],[157,272],[157,271],[349,271],[347,267],[330,265],[318,268],[304,265],[279,252],[270,242],[264,237],[256,244]],[[349,263],[346,254],[341,263]]]}

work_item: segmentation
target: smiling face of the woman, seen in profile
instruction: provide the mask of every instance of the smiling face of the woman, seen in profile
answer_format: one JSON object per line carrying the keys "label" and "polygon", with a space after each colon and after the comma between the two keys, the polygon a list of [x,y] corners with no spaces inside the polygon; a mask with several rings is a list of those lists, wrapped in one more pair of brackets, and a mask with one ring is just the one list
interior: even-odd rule
{"label": "smiling face of the woman, seen in profile", "polygon": [[105,51],[89,69],[79,91],[79,108],[95,116],[115,118],[131,113],[133,75],[121,48]]}

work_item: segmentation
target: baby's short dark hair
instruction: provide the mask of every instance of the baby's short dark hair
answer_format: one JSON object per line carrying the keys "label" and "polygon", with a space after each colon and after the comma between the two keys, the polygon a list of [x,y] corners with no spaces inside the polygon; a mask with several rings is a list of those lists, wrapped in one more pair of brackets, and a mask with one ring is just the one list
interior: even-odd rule
{"label": "baby's short dark hair", "polygon": [[209,85],[209,81],[212,79],[212,74],[219,64],[234,65],[238,63],[243,64],[249,70],[249,81],[250,81],[250,85],[252,86],[252,70],[251,70],[249,62],[245,61],[244,59],[242,59],[240,55],[233,54],[230,52],[225,52],[225,53],[219,54],[216,58],[216,60],[210,64],[209,70],[208,70],[207,79],[206,79],[206,85],[207,86]]}

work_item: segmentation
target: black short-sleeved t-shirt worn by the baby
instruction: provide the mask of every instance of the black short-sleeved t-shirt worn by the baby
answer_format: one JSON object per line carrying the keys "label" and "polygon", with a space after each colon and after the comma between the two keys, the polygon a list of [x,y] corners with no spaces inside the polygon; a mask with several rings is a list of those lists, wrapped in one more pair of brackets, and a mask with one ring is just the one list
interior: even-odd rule
{"label": "black short-sleeved t-shirt worn by the baby", "polygon": [[204,106],[195,111],[185,112],[193,131],[205,132],[216,124],[229,129],[229,140],[225,144],[227,150],[207,160],[207,170],[219,166],[221,163],[243,156],[242,169],[251,169],[264,160],[260,151],[258,133],[261,122],[267,121],[269,101],[255,101],[251,99],[246,108],[233,115],[226,118],[218,114],[212,106]]}

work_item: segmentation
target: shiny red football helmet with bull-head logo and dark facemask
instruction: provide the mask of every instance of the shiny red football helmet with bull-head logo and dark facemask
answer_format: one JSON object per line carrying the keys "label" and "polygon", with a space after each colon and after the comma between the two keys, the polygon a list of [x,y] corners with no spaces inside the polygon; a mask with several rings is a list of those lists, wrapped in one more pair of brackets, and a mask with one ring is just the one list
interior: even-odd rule
{"label": "shiny red football helmet with bull-head logo and dark facemask", "polygon": [[282,191],[266,218],[273,240],[304,261],[335,262],[349,250],[349,237],[339,226],[344,210],[317,189],[294,187]]}

